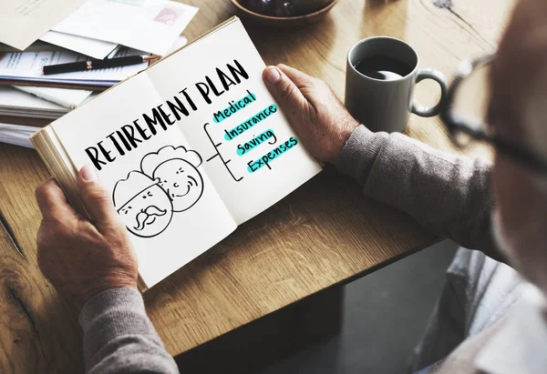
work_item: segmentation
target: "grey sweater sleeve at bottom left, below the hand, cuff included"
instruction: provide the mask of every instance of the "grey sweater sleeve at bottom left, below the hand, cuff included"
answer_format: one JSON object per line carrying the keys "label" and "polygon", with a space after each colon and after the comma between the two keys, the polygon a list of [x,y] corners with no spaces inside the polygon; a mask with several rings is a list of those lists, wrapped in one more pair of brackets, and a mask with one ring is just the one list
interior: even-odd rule
{"label": "grey sweater sleeve at bottom left, below the hand, cuff included", "polygon": [[134,288],[91,298],[79,315],[86,373],[178,373]]}

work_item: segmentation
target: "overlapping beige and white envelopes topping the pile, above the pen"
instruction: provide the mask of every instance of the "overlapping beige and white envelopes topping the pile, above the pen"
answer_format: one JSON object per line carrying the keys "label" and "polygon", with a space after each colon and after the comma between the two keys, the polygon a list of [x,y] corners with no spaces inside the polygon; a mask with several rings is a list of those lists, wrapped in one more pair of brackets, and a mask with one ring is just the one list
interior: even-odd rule
{"label": "overlapping beige and white envelopes topping the pile, above the pen", "polygon": [[169,0],[10,0],[0,42],[24,50],[40,39],[99,59],[118,45],[164,56],[197,12]]}

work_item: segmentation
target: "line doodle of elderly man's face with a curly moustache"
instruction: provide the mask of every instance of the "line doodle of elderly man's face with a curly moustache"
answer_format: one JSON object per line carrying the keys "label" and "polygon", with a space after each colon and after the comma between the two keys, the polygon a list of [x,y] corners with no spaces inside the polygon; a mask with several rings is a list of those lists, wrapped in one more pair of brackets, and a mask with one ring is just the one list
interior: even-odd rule
{"label": "line doodle of elderly man's face with a curly moustache", "polygon": [[120,179],[112,193],[114,206],[129,231],[140,238],[151,238],[165,230],[173,216],[172,204],[157,181],[131,171]]}

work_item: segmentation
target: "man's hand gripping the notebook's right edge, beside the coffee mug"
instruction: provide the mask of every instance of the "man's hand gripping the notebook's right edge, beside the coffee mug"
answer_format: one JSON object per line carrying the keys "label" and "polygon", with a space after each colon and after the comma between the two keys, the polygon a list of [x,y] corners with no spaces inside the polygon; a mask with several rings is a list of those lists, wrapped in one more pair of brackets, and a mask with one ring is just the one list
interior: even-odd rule
{"label": "man's hand gripping the notebook's right edge, beside the coffee mug", "polygon": [[266,67],[263,79],[304,147],[314,157],[335,164],[359,123],[330,87],[284,65]]}

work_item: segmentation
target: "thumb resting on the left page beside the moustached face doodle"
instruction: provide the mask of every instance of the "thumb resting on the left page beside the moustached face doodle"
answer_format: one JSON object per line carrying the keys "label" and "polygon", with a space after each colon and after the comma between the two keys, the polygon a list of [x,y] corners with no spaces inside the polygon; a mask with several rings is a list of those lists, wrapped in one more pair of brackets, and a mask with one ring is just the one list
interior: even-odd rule
{"label": "thumb resting on the left page beside the moustached face doodle", "polygon": [[116,209],[110,194],[98,181],[95,167],[87,165],[77,174],[77,186],[80,196],[93,221],[106,223],[116,217]]}

